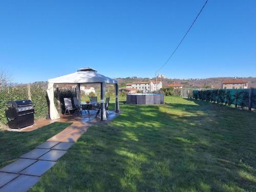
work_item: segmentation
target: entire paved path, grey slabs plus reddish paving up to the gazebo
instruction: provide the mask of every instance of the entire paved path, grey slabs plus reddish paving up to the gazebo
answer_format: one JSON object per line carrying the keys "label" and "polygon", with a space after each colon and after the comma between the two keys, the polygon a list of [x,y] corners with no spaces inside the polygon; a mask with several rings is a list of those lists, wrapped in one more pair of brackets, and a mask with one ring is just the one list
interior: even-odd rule
{"label": "entire paved path, grey slabs plus reddish paving up to the gazebo", "polygon": [[[109,116],[109,120],[118,114]],[[109,122],[106,121],[106,122]],[[60,119],[61,121],[61,119]],[[56,164],[56,161],[67,153],[67,150],[79,137],[88,130],[93,121],[71,121],[72,125],[46,142],[36,146],[32,151],[20,156],[13,163],[0,169],[0,192],[25,192],[40,180],[47,170]]]}

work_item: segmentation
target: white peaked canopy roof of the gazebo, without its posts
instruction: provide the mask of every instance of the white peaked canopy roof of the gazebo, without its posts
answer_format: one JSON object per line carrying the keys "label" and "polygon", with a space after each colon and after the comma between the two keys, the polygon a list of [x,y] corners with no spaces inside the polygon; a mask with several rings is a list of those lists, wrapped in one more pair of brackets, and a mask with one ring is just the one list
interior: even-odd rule
{"label": "white peaked canopy roof of the gazebo, without its posts", "polygon": [[105,77],[104,75],[97,73],[96,70],[89,67],[78,69],[77,72],[75,73],[49,79],[48,82],[51,82],[51,83],[97,83],[97,82],[98,83],[99,82],[118,83],[117,80],[112,79],[110,77]]}

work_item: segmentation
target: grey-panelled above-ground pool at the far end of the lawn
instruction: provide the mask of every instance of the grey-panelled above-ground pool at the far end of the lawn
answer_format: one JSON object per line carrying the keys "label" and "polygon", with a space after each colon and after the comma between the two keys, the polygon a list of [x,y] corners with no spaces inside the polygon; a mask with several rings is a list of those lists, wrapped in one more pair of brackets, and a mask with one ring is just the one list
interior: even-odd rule
{"label": "grey-panelled above-ground pool at the far end of the lawn", "polygon": [[126,104],[163,104],[163,93],[127,94]]}

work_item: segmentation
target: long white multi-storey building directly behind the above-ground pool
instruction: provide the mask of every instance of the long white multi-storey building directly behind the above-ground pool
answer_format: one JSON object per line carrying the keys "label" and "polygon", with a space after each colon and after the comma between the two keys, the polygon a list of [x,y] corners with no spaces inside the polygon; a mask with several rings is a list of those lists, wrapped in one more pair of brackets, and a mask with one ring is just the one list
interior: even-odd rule
{"label": "long white multi-storey building directly behind the above-ground pool", "polygon": [[126,88],[137,89],[143,92],[154,92],[158,91],[162,88],[162,81],[140,81],[140,82],[132,82],[127,83]]}

